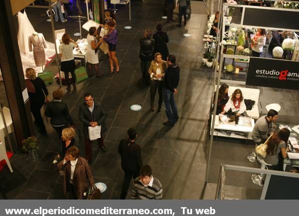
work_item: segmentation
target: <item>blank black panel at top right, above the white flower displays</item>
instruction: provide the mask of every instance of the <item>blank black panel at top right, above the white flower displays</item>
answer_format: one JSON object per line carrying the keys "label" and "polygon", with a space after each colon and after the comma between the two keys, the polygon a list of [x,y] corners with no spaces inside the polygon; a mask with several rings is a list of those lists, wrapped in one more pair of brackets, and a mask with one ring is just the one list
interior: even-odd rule
{"label": "blank black panel at top right, above the white flower displays", "polygon": [[299,12],[246,7],[243,25],[299,29]]}

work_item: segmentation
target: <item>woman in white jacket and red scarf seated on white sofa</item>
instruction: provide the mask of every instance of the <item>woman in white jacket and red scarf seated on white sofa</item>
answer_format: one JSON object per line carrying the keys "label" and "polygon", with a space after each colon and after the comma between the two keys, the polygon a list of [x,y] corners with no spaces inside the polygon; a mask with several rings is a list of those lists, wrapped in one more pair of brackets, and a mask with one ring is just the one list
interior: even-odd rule
{"label": "woman in white jacket and red scarf seated on white sofa", "polygon": [[236,89],[221,114],[231,114],[231,115],[243,115],[248,116],[246,113],[246,105],[244,103],[244,98],[240,89]]}

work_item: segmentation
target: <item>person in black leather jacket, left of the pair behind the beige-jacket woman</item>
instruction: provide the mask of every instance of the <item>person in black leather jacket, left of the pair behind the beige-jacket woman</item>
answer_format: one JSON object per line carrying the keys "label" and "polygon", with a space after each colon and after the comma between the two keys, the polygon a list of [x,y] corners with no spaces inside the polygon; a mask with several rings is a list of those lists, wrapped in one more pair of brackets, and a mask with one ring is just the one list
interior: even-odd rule
{"label": "person in black leather jacket, left of the pair behind the beige-jacket woman", "polygon": [[152,51],[154,46],[154,39],[150,39],[151,31],[147,29],[144,33],[144,38],[139,40],[140,43],[140,66],[143,78],[145,79],[146,83],[149,84],[149,65],[152,61]]}

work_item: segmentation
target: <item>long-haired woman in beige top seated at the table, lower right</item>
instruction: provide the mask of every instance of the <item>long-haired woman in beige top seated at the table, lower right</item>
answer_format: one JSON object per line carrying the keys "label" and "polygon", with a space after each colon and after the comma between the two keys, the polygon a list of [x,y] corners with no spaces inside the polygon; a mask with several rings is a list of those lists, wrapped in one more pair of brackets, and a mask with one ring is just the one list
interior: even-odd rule
{"label": "long-haired woman in beige top seated at the table, lower right", "polygon": [[[272,166],[268,167],[272,170],[283,171],[283,159],[280,157],[280,152],[283,158],[287,158],[286,145],[290,136],[290,130],[288,128],[282,128],[278,133],[273,134],[267,144],[267,155],[264,161]],[[281,162],[280,162],[281,161]]]}

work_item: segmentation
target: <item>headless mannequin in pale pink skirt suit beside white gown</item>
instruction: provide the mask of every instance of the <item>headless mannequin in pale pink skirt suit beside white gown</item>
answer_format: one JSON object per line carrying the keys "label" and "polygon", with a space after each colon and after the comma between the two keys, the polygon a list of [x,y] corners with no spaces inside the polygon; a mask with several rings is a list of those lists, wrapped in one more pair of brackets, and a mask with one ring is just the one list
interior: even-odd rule
{"label": "headless mannequin in pale pink skirt suit beside white gown", "polygon": [[33,57],[37,67],[44,66],[46,64],[46,55],[44,48],[47,48],[46,40],[42,33],[33,32],[28,37],[29,51],[32,52],[33,46]]}

